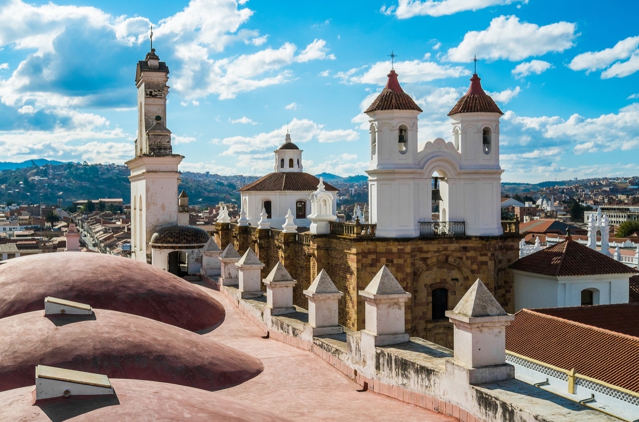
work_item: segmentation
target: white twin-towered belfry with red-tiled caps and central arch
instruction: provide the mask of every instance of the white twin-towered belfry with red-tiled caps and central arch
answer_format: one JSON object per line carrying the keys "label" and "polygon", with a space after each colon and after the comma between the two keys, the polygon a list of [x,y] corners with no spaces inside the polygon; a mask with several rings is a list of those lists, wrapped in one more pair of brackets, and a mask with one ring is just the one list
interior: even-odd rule
{"label": "white twin-towered belfry with red-tiled caps and central arch", "polygon": [[[378,237],[427,236],[445,230],[471,236],[502,234],[499,118],[502,111],[477,73],[449,112],[452,142],[435,139],[417,151],[422,109],[404,93],[391,70],[370,117],[370,223]],[[439,180],[440,222],[433,223],[434,176]],[[437,183],[437,182],[435,182]]]}

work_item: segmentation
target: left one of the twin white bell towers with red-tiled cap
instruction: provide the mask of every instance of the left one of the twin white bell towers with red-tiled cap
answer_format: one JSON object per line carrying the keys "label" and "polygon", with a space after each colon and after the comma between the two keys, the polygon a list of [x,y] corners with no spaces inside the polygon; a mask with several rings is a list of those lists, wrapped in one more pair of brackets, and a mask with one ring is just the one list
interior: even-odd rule
{"label": "left one of the twin white bell towers with red-tiled cap", "polygon": [[368,174],[370,222],[378,237],[419,236],[417,116],[422,109],[404,93],[395,70],[365,113],[371,130]]}

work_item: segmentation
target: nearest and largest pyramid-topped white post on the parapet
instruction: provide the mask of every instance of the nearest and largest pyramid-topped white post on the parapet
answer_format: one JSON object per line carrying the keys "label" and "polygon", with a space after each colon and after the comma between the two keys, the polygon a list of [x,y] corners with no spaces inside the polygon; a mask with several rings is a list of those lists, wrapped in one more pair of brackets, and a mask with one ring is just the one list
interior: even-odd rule
{"label": "nearest and largest pyramid-topped white post on the parapet", "polygon": [[454,360],[468,370],[470,384],[514,377],[506,362],[506,313],[479,278],[446,316],[454,324]]}

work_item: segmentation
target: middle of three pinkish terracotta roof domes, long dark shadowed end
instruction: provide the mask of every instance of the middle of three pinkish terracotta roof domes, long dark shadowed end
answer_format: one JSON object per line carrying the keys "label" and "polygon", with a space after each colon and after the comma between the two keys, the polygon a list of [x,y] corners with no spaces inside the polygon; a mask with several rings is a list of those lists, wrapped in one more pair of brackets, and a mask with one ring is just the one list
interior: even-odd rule
{"label": "middle of three pinkish terracotta roof domes, long dark shadowed end", "polygon": [[240,384],[264,368],[258,359],[211,338],[111,310],[13,315],[0,319],[0,338],[6,345],[0,391],[32,385],[36,365],[206,390]]}

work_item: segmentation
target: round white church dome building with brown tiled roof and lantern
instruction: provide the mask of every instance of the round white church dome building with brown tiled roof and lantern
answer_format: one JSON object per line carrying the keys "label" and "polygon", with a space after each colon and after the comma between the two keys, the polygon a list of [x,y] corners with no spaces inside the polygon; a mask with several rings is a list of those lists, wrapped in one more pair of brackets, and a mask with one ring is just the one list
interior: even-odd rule
{"label": "round white church dome building with brown tiled roof and lantern", "polygon": [[[249,224],[257,226],[262,211],[273,229],[281,229],[286,222],[288,210],[295,217],[293,222],[298,227],[310,227],[308,219],[311,214],[309,199],[319,185],[319,179],[303,172],[302,150],[291,142],[291,135],[286,133],[286,140],[275,151],[273,172],[240,189],[242,211],[246,213]],[[332,195],[332,214],[337,214],[334,186],[325,183],[325,190]]]}

